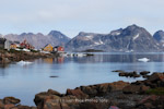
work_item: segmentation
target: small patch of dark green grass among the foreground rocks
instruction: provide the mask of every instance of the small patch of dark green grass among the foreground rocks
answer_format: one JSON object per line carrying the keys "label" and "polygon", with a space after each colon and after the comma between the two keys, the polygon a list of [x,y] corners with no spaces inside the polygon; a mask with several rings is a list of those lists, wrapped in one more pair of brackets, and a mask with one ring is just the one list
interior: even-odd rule
{"label": "small patch of dark green grass among the foreground rocks", "polygon": [[147,94],[164,95],[164,87],[151,88],[147,90]]}

